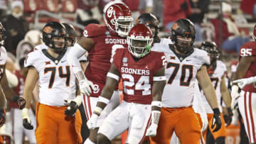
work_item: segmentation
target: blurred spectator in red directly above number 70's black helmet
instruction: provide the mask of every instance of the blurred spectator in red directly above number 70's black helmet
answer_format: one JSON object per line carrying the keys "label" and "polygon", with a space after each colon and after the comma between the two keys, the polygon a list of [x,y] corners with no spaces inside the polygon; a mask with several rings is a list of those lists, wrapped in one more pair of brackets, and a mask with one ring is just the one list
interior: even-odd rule
{"label": "blurred spectator in red directly above number 70's black helmet", "polygon": [[164,0],[164,27],[171,31],[171,26],[179,18],[187,18],[192,13],[189,0]]}

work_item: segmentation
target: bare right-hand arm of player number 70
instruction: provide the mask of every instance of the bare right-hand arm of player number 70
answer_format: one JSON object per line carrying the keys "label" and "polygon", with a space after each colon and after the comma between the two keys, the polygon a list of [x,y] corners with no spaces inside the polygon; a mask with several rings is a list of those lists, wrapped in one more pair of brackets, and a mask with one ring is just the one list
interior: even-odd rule
{"label": "bare right-hand arm of player number 70", "polygon": [[196,74],[196,79],[198,79],[198,83],[203,89],[203,92],[205,93],[206,99],[210,104],[211,109],[218,108],[216,92],[214,90],[213,84],[210,81],[210,77],[208,76],[206,66],[203,65],[201,67],[201,70],[199,70]]}

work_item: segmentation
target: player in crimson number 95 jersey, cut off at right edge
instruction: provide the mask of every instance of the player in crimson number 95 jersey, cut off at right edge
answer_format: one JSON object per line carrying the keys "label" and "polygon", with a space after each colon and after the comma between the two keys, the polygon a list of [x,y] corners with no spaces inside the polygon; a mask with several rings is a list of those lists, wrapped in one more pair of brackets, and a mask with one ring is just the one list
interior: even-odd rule
{"label": "player in crimson number 95 jersey, cut off at right edge", "polygon": [[[256,25],[253,29],[252,38],[256,40]],[[237,71],[234,74],[232,90],[231,90],[231,107],[234,109],[238,102],[239,111],[245,123],[245,131],[250,143],[256,143],[256,42],[251,41],[245,43],[240,48],[239,63]],[[241,88],[239,94],[238,89]]]}

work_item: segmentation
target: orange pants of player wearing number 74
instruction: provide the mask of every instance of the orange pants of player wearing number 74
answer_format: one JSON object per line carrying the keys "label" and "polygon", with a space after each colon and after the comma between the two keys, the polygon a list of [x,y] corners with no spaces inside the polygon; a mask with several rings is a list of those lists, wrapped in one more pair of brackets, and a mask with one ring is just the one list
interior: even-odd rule
{"label": "orange pants of player wearing number 74", "polygon": [[37,144],[75,144],[78,135],[75,131],[75,117],[65,116],[67,106],[36,105]]}

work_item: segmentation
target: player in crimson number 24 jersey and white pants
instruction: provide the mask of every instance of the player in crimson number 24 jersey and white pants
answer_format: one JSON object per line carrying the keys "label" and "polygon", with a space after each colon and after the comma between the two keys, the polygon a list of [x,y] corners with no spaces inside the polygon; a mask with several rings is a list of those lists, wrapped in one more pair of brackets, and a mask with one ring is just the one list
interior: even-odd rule
{"label": "player in crimson number 24 jersey and white pants", "polygon": [[128,48],[117,49],[115,52],[106,85],[92,118],[87,122],[88,126],[96,128],[97,118],[109,104],[119,79],[123,80],[124,100],[100,126],[97,143],[111,143],[110,140],[127,128],[126,143],[141,143],[145,135],[156,135],[161,113],[161,94],[166,84],[166,57],[162,52],[150,50],[153,40],[149,28],[139,23],[129,31]]}

